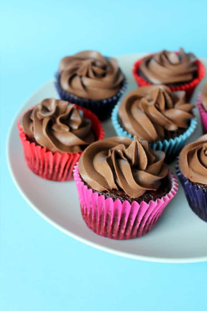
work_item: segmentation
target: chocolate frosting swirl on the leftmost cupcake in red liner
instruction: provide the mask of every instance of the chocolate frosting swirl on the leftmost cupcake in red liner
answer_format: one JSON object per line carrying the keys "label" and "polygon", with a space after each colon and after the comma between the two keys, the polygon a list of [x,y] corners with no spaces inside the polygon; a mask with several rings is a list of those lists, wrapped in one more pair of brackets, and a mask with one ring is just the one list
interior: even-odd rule
{"label": "chocolate frosting swirl on the leftmost cupcake in red liner", "polygon": [[52,152],[80,152],[95,141],[91,120],[83,118],[74,104],[54,98],[47,98],[28,110],[21,126],[29,138]]}

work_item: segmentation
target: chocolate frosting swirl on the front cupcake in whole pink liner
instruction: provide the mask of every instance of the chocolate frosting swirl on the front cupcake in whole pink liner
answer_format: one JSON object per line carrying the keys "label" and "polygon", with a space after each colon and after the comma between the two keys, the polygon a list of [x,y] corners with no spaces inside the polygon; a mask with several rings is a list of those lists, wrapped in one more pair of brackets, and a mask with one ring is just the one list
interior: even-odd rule
{"label": "chocolate frosting swirl on the front cupcake in whole pink liner", "polygon": [[168,174],[163,151],[152,151],[146,141],[110,137],[88,146],[79,160],[79,172],[92,189],[123,189],[131,198],[157,190]]}

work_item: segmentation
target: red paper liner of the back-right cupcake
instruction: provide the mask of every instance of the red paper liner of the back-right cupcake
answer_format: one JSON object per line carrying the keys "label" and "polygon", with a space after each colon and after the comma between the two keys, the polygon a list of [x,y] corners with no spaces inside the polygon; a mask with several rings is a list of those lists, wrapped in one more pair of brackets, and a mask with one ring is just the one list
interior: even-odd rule
{"label": "red paper liner of the back-right cupcake", "polygon": [[[133,70],[132,70],[134,79],[137,82],[138,86],[152,85],[153,83],[148,82],[144,78],[139,76],[138,72],[139,72],[139,68],[140,68],[141,63],[142,63],[142,58],[139,59],[136,63],[134,63]],[[186,92],[186,100],[190,100],[196,86],[199,84],[199,82],[205,76],[204,64],[201,63],[201,61],[198,59],[196,60],[195,63],[198,65],[198,77],[197,78],[194,78],[192,81],[187,82],[187,83],[183,83],[181,85],[169,86],[170,90],[173,92],[174,91],[185,91]]]}

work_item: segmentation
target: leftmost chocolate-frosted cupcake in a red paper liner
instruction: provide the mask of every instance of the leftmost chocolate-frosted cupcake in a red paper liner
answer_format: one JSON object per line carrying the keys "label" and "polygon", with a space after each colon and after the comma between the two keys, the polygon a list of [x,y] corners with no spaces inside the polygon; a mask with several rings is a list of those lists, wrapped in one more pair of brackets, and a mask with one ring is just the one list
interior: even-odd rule
{"label": "leftmost chocolate-frosted cupcake in a red paper liner", "polygon": [[104,137],[98,118],[88,109],[47,98],[17,123],[28,167],[38,176],[67,181],[83,150]]}

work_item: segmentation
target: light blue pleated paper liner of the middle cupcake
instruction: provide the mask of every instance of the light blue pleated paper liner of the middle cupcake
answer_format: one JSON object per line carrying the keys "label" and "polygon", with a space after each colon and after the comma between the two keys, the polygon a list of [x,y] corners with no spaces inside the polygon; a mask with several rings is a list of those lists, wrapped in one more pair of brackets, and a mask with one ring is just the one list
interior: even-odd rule
{"label": "light blue pleated paper liner of the middle cupcake", "polygon": [[[133,139],[133,136],[128,133],[126,130],[124,130],[118,121],[118,108],[119,103],[114,107],[112,114],[111,114],[111,121],[114,126],[114,129],[118,136],[125,136]],[[184,132],[183,134],[179,135],[175,138],[170,138],[169,140],[164,139],[163,141],[157,141],[154,143],[149,143],[152,150],[162,150],[165,152],[165,162],[170,163],[178,156],[180,151],[182,150],[185,142],[187,139],[191,136],[191,134],[194,132],[197,125],[196,118],[191,119],[191,123],[189,128]]]}

